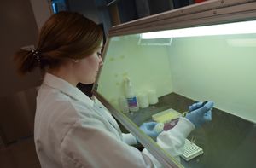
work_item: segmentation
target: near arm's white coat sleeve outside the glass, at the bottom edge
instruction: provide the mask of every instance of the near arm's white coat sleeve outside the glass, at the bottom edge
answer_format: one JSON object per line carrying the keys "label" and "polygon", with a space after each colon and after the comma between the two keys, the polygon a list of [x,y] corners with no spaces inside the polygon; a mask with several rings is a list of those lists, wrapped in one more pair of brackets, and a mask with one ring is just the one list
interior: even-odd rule
{"label": "near arm's white coat sleeve outside the glass, at the bottom edge", "polygon": [[61,142],[63,167],[153,167],[147,155],[108,131],[94,118],[76,122]]}

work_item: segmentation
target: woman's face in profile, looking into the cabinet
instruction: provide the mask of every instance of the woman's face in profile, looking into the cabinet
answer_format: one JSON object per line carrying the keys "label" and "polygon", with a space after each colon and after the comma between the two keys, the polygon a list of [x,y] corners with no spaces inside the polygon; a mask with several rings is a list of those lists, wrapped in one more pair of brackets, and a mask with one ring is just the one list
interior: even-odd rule
{"label": "woman's face in profile, looking into the cabinet", "polygon": [[82,84],[92,84],[102,62],[102,45],[92,55],[85,57],[75,63],[75,73],[78,81]]}

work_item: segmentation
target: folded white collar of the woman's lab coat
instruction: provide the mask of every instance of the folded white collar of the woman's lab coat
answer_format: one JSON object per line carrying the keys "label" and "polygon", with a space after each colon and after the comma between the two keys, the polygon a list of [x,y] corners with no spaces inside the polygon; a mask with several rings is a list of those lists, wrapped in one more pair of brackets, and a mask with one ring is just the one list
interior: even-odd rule
{"label": "folded white collar of the woman's lab coat", "polygon": [[69,84],[62,78],[58,78],[50,73],[46,73],[43,84],[49,85],[49,87],[55,88],[56,90],[60,90],[67,96],[71,96],[73,99],[78,101],[83,101],[93,107],[94,101],[92,101],[78,88],[74,87],[72,84]]}

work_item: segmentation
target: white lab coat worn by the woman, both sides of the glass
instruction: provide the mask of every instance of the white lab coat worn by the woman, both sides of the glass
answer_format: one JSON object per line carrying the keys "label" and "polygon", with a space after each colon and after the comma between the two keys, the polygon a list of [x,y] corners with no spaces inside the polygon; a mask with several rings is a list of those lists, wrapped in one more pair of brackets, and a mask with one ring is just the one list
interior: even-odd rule
{"label": "white lab coat worn by the woman, both sides of the glass", "polygon": [[[158,144],[173,156],[182,154],[194,125],[180,119],[160,134]],[[46,73],[38,91],[34,139],[42,168],[160,167],[131,134],[122,134],[113,117],[73,85]]]}

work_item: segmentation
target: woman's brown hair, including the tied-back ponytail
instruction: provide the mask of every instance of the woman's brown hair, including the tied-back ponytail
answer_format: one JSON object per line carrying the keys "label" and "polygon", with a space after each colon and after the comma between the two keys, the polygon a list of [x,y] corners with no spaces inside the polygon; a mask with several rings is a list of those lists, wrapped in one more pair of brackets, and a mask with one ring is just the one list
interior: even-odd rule
{"label": "woman's brown hair, including the tied-back ponytail", "polygon": [[102,28],[82,14],[60,12],[44,23],[35,51],[20,49],[15,54],[18,72],[32,72],[35,67],[55,68],[63,61],[82,59],[93,54],[102,42]]}

